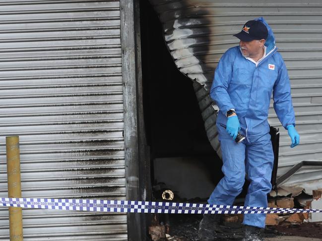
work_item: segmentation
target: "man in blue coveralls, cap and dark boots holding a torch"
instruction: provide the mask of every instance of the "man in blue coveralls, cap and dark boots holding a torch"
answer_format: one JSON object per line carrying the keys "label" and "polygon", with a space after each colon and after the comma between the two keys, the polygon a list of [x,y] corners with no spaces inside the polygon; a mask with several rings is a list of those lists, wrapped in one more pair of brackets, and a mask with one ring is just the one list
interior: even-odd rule
{"label": "man in blue coveralls, cap and dark boots holding a torch", "polygon": [[[290,81],[275,38],[263,18],[248,21],[240,33],[237,47],[229,48],[215,70],[210,96],[217,103],[217,130],[222,151],[223,179],[211,193],[208,203],[232,205],[241,193],[245,175],[250,181],[245,206],[267,207],[271,191],[274,154],[267,122],[271,95],[274,109],[291,138],[299,144],[295,130]],[[226,128],[225,128],[225,127]],[[238,131],[246,137],[236,143]],[[199,225],[199,240],[216,240],[215,227],[221,214],[204,214]],[[245,214],[243,241],[263,241],[265,214]]]}

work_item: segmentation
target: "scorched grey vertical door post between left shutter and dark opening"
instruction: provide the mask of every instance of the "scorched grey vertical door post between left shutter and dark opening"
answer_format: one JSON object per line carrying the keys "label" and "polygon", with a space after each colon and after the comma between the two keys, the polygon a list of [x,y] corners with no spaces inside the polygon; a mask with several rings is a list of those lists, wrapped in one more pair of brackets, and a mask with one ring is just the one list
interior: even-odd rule
{"label": "scorched grey vertical door post between left shutter and dark opening", "polygon": [[[120,0],[124,141],[128,200],[150,199],[150,168],[145,141],[139,1]],[[146,241],[147,215],[128,213],[128,240]]]}

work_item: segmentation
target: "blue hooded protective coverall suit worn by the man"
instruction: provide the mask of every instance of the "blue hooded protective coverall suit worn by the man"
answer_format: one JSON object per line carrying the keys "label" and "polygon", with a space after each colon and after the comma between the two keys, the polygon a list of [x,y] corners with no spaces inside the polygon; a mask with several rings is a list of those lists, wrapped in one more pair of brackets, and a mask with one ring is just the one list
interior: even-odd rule
{"label": "blue hooded protective coverall suit worn by the man", "polygon": [[[285,63],[277,52],[272,30],[265,42],[266,55],[258,63],[246,59],[239,46],[228,49],[215,70],[210,96],[220,111],[217,130],[221,145],[224,178],[208,199],[209,204],[232,205],[241,193],[245,174],[250,180],[245,206],[267,207],[267,193],[271,191],[274,155],[267,122],[271,95],[274,109],[286,128],[295,126],[291,88]],[[226,125],[226,112],[235,109],[246,139],[237,144],[221,125]],[[263,228],[265,214],[245,214],[244,224]]]}

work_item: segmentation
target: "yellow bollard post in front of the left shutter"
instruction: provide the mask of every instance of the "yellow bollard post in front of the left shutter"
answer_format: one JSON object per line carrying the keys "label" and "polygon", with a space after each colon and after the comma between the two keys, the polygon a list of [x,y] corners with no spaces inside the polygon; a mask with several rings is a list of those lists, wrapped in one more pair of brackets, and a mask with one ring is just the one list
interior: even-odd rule
{"label": "yellow bollard post in front of the left shutter", "polygon": [[[6,137],[8,197],[21,197],[19,137]],[[10,241],[23,241],[22,209],[9,207]]]}

